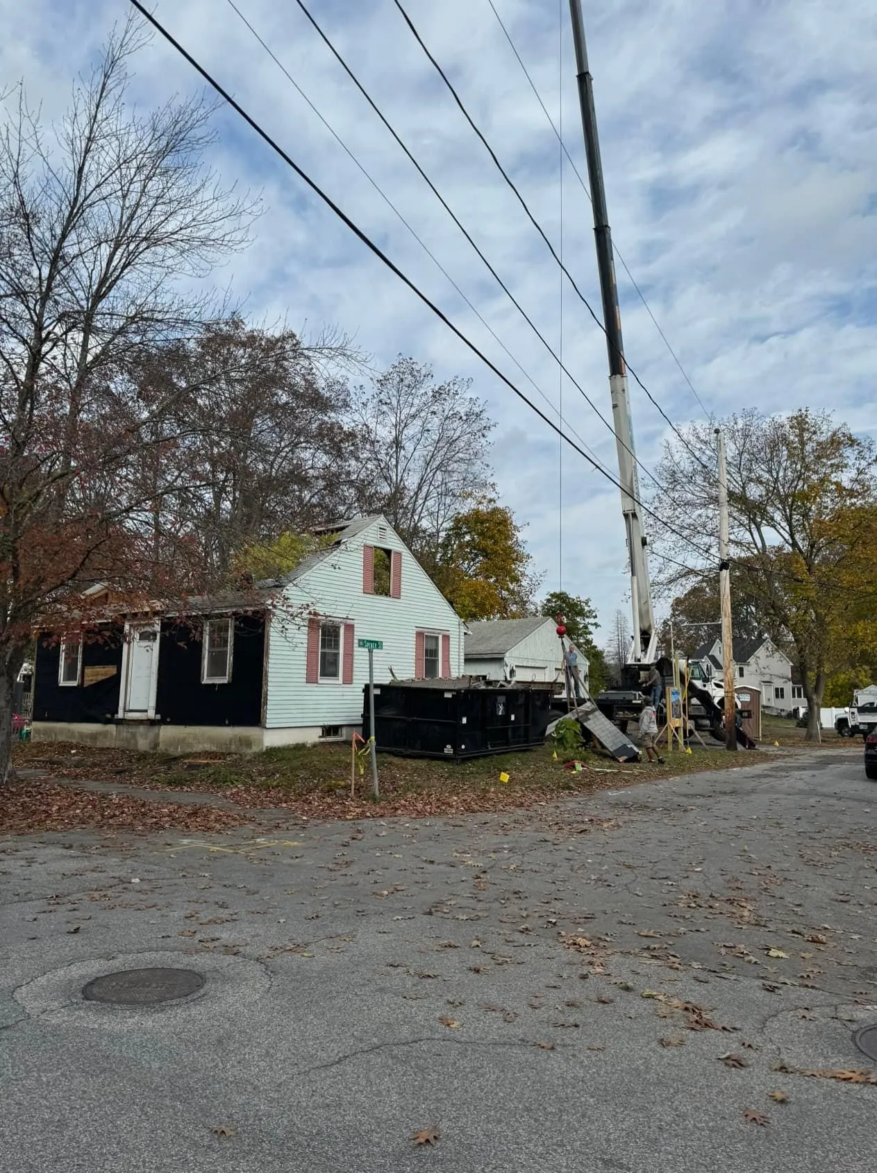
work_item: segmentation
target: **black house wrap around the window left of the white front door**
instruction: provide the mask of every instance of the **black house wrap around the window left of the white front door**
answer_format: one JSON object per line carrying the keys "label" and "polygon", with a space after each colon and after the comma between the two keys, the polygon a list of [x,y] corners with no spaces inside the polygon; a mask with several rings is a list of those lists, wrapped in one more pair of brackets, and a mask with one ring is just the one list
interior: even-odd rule
{"label": "black house wrap around the window left of the white front door", "polygon": [[[79,685],[57,683],[61,660],[61,640],[41,635],[36,640],[34,664],[34,711],[35,721],[89,721],[107,724],[115,720],[118,712],[118,690],[122,673],[122,624],[108,625],[86,639],[82,645],[82,674]],[[109,676],[90,673],[89,669],[110,669]],[[95,679],[86,683],[91,676]]]}

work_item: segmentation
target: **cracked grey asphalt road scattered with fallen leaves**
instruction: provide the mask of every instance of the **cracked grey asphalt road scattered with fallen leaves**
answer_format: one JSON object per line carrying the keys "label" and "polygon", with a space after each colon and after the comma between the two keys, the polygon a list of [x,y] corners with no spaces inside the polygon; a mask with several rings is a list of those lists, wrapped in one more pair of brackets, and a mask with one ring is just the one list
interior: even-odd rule
{"label": "cracked grey asphalt road scattered with fallen leaves", "polygon": [[[0,842],[0,1169],[872,1173],[877,1086],[776,1065],[869,1066],[876,822],[831,751],[516,815]],[[154,965],[206,981],[82,997]]]}

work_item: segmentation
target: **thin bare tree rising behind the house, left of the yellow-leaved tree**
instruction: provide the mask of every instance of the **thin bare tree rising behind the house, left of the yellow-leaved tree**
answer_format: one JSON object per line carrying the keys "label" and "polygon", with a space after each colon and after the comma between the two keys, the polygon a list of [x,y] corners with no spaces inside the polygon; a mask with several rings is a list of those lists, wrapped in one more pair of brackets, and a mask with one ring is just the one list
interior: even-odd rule
{"label": "thin bare tree rising behind the house, left of the yellow-leaved tree", "polygon": [[468,380],[436,384],[430,367],[402,358],[353,395],[360,438],[359,504],[386,514],[429,561],[450,518],[492,489],[494,423]]}

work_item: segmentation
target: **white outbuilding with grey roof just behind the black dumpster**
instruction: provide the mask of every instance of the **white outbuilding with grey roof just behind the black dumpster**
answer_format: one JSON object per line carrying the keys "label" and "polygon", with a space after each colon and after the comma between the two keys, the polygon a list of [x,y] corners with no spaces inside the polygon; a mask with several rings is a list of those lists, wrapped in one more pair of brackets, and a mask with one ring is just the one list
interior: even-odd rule
{"label": "white outbuilding with grey roof just behind the black dumpster", "polygon": [[[468,623],[463,670],[488,680],[563,680],[557,623],[544,616]],[[578,653],[587,687],[587,659]]]}

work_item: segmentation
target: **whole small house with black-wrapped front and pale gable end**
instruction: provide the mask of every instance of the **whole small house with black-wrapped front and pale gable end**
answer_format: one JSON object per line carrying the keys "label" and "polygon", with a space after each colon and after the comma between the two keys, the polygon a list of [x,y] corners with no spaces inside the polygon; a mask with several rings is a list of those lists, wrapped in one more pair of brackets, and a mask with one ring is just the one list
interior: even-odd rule
{"label": "whole small house with black-wrapped front and pale gable end", "polygon": [[[184,753],[349,737],[375,683],[453,677],[463,622],[386,517],[324,526],[285,578],[40,632],[34,740]],[[106,588],[104,588],[106,591]]]}

